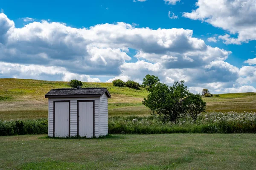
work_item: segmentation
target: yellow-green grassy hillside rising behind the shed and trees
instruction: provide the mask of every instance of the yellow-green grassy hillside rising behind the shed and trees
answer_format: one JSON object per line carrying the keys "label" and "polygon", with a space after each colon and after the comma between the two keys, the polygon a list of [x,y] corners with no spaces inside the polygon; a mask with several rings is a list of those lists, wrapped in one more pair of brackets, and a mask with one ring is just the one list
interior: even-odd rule
{"label": "yellow-green grassy hillside rising behind the shed and trees", "polygon": [[[46,118],[48,102],[44,95],[52,88],[68,88],[67,82],[33,79],[0,79],[0,119]],[[119,88],[112,83],[87,83],[83,87],[106,87],[111,93],[109,115],[146,115],[148,108],[142,104],[148,92]],[[220,94],[220,97],[204,98],[207,111],[256,111],[256,93]]]}

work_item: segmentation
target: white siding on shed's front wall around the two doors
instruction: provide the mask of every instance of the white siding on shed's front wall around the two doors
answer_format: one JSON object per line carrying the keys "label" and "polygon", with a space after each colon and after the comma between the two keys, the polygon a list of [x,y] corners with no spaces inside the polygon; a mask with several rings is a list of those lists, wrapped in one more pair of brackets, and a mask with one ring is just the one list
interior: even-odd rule
{"label": "white siding on shed's front wall around the two doors", "polygon": [[99,97],[86,98],[49,98],[48,136],[53,136],[53,101],[70,100],[70,136],[77,135],[77,100],[95,100],[95,136],[99,137]]}

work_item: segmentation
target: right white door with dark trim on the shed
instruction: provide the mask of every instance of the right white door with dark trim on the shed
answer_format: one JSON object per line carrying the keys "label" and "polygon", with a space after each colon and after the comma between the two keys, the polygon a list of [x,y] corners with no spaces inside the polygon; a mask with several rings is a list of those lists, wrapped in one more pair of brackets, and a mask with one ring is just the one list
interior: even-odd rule
{"label": "right white door with dark trim on the shed", "polygon": [[93,102],[79,102],[79,136],[93,137]]}

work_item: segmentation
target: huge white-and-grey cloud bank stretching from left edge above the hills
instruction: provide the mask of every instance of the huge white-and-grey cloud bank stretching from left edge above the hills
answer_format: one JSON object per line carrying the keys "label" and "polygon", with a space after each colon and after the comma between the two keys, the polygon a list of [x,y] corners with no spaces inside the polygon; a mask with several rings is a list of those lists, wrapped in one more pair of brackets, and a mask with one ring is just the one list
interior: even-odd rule
{"label": "huge white-and-grey cloud bank stretching from left edge above the hills", "polygon": [[[136,51],[134,56],[131,49]],[[154,74],[169,85],[185,80],[191,88],[209,87],[216,92],[240,85],[239,78],[249,79],[225,62],[230,54],[182,28],[135,28],[128,23],[73,28],[49,21],[16,28],[0,14],[2,78],[99,82],[92,77],[108,76],[113,78],[107,82],[133,79],[142,83],[146,74]]]}

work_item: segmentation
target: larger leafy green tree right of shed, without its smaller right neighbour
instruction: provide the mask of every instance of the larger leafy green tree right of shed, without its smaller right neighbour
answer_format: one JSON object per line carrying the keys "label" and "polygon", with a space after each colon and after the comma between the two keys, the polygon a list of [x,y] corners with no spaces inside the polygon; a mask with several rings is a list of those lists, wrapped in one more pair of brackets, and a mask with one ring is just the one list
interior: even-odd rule
{"label": "larger leafy green tree right of shed, without its smaller right neighbour", "polygon": [[158,82],[150,92],[147,98],[144,98],[143,104],[153,113],[159,114],[163,122],[172,121],[176,124],[186,115],[189,90],[184,85],[184,81],[175,82],[170,87]]}

